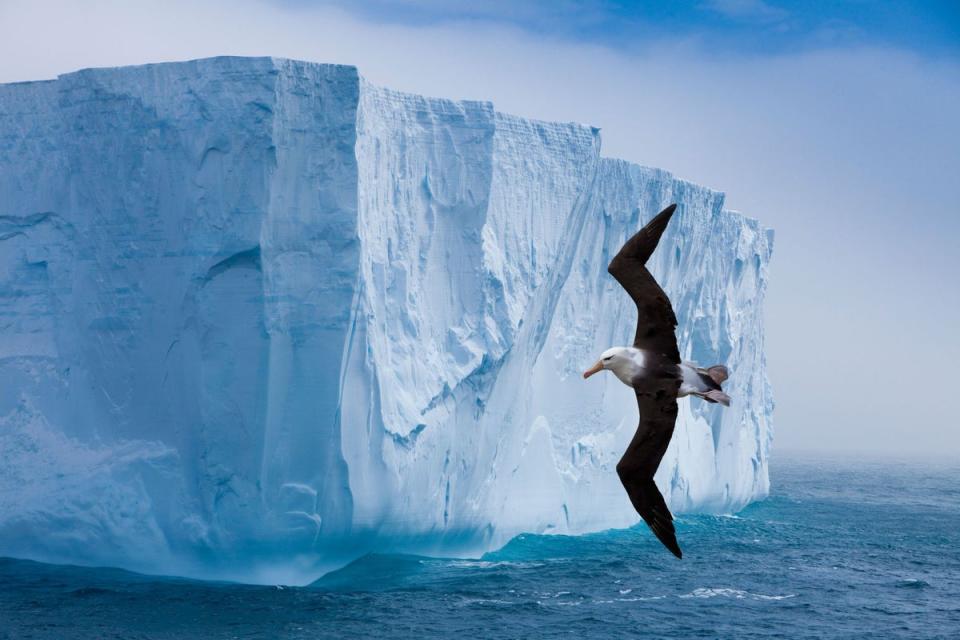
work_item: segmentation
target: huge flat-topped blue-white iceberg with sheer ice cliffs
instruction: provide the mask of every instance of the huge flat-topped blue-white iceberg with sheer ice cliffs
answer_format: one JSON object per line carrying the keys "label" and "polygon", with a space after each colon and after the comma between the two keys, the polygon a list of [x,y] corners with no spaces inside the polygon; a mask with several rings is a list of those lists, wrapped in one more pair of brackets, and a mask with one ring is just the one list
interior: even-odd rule
{"label": "huge flat-topped blue-white iceberg with sheer ice cliffs", "polygon": [[657,482],[765,495],[772,236],[599,150],[289,60],[0,86],[0,555],[292,582],[633,524],[632,393],[579,373],[674,201],[653,270],[734,403],[681,401]]}

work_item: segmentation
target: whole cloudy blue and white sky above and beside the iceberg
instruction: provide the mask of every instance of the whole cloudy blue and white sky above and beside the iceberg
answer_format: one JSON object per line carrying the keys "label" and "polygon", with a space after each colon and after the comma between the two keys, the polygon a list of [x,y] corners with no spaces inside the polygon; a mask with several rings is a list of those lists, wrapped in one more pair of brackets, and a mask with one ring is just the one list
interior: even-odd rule
{"label": "whole cloudy blue and white sky above and beside the iceberg", "polygon": [[601,128],[776,232],[774,455],[960,455],[960,2],[0,0],[0,82],[212,55]]}

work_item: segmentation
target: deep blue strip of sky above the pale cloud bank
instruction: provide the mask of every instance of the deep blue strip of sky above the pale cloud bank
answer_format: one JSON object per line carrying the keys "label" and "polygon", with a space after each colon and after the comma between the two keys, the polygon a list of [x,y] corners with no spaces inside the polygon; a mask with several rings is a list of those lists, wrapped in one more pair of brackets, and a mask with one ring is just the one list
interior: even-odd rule
{"label": "deep blue strip of sky above the pale cloud bank", "polygon": [[286,8],[336,6],[364,20],[411,26],[510,24],[558,37],[640,50],[666,36],[752,54],[828,46],[891,46],[925,54],[960,51],[955,0],[272,0]]}

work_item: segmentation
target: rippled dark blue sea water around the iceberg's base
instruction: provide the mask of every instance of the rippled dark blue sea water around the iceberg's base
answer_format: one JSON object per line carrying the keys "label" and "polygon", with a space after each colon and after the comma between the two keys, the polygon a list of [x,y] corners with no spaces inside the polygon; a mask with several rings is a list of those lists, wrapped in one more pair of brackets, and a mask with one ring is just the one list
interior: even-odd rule
{"label": "rippled dark blue sea water around the iceberg's base", "polygon": [[0,638],[960,638],[960,463],[775,459],[736,516],[368,556],[304,588],[0,559]]}

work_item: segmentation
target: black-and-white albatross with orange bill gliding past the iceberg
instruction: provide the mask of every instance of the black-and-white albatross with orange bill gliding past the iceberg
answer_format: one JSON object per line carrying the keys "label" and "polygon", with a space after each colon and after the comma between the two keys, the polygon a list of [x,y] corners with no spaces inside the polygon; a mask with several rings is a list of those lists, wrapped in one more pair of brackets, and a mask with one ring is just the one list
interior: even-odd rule
{"label": "black-and-white albatross with orange bill gliding past the iceberg", "polygon": [[703,369],[680,361],[675,333],[677,317],[667,294],[647,271],[647,260],[657,248],[676,208],[677,205],[672,204],[657,214],[627,240],[607,267],[637,305],[637,332],[632,347],[607,349],[583,377],[608,369],[633,388],[640,409],[640,424],[617,463],[617,475],[633,507],[654,535],[673,555],[682,558],[673,516],[653,481],[653,474],[673,436],[677,398],[693,395],[730,406],[730,396],[720,388],[728,376],[726,367],[715,365]]}

